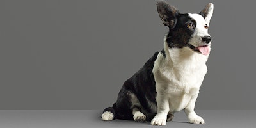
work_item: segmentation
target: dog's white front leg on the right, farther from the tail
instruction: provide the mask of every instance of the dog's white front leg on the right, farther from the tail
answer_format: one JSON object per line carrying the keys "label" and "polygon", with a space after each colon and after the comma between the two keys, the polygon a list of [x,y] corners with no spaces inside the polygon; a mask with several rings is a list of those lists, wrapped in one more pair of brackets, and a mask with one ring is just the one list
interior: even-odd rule
{"label": "dog's white front leg on the right, farther from the tail", "polygon": [[193,124],[205,124],[204,119],[198,115],[196,115],[194,108],[195,102],[198,97],[198,94],[194,95],[189,101],[188,106],[185,108],[185,113],[188,116],[189,123]]}

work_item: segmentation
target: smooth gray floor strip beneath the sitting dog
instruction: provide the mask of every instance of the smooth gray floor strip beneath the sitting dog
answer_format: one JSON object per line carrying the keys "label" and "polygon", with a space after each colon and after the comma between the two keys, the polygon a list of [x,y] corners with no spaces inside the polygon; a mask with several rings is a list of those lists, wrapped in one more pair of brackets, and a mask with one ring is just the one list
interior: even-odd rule
{"label": "smooth gray floor strip beneath the sitting dog", "polygon": [[[196,111],[206,124],[189,124],[184,112],[175,113],[173,122],[164,127],[256,127],[256,110],[253,111]],[[4,128],[78,128],[78,127],[154,127],[150,122],[136,123],[127,120],[100,120],[99,110],[1,110],[0,127]]]}

